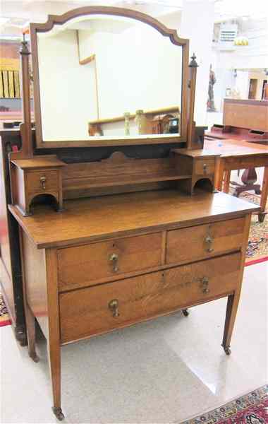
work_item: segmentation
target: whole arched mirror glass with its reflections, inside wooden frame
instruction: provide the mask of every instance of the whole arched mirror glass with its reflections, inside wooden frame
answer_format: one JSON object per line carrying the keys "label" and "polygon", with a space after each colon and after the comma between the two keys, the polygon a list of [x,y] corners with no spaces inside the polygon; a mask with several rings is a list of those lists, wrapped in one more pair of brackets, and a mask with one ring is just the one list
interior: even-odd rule
{"label": "whole arched mirror glass with its reflections, inside wooden frame", "polygon": [[43,141],[180,134],[182,48],[150,25],[81,16],[37,49]]}

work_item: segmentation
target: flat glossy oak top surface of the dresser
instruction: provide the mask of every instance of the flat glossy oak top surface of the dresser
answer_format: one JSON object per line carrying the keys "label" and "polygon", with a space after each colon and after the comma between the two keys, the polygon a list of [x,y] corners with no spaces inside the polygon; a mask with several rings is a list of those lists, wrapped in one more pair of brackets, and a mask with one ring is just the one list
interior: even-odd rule
{"label": "flat glossy oak top surface of the dresser", "polygon": [[189,196],[174,190],[65,201],[61,213],[40,205],[28,217],[8,207],[39,249],[198,225],[260,210],[221,192]]}

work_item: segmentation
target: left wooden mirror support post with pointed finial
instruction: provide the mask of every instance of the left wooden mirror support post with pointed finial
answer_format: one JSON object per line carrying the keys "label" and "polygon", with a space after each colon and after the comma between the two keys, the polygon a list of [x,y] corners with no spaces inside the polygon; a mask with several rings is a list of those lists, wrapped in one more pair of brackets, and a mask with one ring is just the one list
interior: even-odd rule
{"label": "left wooden mirror support post with pointed finial", "polygon": [[20,90],[23,107],[23,123],[20,124],[20,134],[22,138],[22,148],[20,158],[32,158],[32,122],[30,108],[30,70],[29,70],[30,50],[28,41],[25,40],[23,33],[23,41],[20,46]]}

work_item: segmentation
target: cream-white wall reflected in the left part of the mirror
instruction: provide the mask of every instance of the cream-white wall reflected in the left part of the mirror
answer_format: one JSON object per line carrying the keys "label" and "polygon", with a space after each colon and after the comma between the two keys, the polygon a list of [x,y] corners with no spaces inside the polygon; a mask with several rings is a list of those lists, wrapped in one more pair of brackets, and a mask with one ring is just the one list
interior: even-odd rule
{"label": "cream-white wall reflected in the left part of the mirror", "polygon": [[88,139],[89,116],[96,115],[94,70],[78,61],[73,30],[38,37],[44,141]]}

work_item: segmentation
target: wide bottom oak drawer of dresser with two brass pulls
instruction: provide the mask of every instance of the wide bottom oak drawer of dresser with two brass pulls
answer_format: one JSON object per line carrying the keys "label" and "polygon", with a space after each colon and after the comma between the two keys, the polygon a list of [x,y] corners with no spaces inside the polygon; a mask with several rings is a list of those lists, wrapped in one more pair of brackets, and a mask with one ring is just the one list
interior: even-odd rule
{"label": "wide bottom oak drawer of dresser with two brass pulls", "polygon": [[232,293],[240,253],[60,295],[61,341],[100,334]]}

